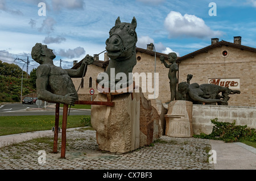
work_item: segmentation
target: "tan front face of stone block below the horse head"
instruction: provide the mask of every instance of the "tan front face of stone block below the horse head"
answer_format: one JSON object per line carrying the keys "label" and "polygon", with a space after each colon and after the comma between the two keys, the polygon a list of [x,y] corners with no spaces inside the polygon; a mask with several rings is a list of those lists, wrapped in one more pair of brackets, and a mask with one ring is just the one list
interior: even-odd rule
{"label": "tan front face of stone block below the horse head", "polygon": [[[95,101],[107,101],[98,94]],[[92,105],[91,121],[101,150],[126,153],[139,148],[139,93],[112,95],[114,106]]]}

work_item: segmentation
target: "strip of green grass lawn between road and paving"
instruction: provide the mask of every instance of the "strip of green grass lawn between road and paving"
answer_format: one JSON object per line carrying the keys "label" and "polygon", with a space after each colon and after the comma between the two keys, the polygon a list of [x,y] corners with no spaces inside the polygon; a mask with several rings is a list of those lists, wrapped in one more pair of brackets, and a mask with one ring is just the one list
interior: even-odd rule
{"label": "strip of green grass lawn between road and paving", "polygon": [[[68,116],[67,128],[83,127],[82,118],[90,117],[85,115]],[[51,130],[55,125],[55,116],[1,116],[0,136],[18,134],[33,131]],[[60,115],[59,127],[62,125]]]}

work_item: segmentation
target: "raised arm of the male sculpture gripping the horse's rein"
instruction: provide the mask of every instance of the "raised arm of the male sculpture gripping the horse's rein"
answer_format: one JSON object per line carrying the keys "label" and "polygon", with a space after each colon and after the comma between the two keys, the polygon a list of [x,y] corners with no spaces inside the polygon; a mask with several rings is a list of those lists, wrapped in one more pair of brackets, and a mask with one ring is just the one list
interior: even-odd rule
{"label": "raised arm of the male sculpture gripping the horse's rein", "polygon": [[[87,54],[83,59],[82,59],[82,64],[79,69],[65,69],[68,72],[69,77],[72,78],[81,78],[84,77],[86,71],[87,71],[87,65],[92,64],[94,61],[92,56],[89,56]],[[83,75],[84,74],[84,75]]]}

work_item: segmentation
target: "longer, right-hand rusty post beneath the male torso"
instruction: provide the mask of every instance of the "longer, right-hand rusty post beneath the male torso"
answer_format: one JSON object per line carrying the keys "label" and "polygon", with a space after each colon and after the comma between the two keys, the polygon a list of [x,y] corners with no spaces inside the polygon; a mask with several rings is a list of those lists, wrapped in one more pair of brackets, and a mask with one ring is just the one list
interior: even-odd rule
{"label": "longer, right-hand rusty post beneath the male torso", "polygon": [[60,158],[65,158],[67,119],[68,119],[68,104],[64,104],[64,106],[63,106],[63,119],[62,119],[61,154],[60,154]]}

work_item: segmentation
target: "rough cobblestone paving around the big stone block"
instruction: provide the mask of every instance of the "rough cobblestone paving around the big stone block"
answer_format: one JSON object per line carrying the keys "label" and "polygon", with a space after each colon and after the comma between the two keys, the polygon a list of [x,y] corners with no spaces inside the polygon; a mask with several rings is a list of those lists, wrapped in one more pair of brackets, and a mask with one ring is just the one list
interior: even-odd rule
{"label": "rough cobblestone paving around the big stone block", "polygon": [[[114,154],[98,149],[95,131],[81,128],[67,132],[66,159],[60,158],[60,142],[57,154],[52,153],[53,134],[0,148],[0,169],[213,170],[208,163],[209,140],[199,138],[162,136],[151,146]],[[46,163],[38,162],[39,150],[46,151]]]}

